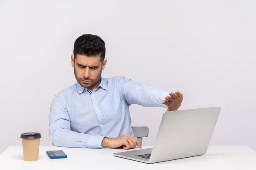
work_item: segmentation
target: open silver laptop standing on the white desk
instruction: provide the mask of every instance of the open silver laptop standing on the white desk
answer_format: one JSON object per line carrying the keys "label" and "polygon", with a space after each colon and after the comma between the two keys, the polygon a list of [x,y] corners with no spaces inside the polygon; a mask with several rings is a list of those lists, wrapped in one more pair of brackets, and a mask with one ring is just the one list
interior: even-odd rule
{"label": "open silver laptop standing on the white desk", "polygon": [[221,107],[166,111],[152,148],[113,153],[113,156],[156,163],[204,155]]}

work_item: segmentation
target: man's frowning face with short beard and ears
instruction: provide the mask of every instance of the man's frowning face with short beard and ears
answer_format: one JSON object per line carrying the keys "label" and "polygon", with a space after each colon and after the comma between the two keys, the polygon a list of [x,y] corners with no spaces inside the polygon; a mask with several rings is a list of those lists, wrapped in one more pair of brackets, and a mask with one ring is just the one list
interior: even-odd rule
{"label": "man's frowning face with short beard and ears", "polygon": [[76,59],[71,55],[71,65],[74,67],[74,74],[77,82],[91,91],[99,87],[102,71],[105,69],[107,60],[101,61],[100,56],[88,57],[86,55],[76,55]]}

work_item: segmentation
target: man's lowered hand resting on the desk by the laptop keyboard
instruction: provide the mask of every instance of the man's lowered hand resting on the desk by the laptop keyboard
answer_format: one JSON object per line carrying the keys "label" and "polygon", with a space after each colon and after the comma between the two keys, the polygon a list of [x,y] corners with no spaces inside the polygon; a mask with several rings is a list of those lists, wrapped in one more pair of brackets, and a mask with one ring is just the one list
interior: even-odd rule
{"label": "man's lowered hand resting on the desk by the laptop keyboard", "polygon": [[117,138],[105,137],[102,140],[102,147],[122,147],[123,149],[134,149],[136,145],[138,145],[139,148],[142,148],[139,140],[130,134],[119,136]]}

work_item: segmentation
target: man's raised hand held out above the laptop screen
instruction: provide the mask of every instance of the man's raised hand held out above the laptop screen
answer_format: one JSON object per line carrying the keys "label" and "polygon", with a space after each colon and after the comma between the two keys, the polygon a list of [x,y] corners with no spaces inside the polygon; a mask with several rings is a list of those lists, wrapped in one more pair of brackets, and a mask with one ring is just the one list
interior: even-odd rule
{"label": "man's raised hand held out above the laptop screen", "polygon": [[175,91],[175,93],[169,92],[169,95],[165,97],[162,103],[168,107],[167,111],[177,111],[183,101],[183,94]]}

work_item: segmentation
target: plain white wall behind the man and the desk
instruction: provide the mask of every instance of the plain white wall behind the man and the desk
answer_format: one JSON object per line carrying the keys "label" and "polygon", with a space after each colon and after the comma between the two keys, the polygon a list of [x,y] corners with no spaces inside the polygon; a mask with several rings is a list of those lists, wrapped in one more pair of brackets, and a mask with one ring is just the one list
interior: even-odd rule
{"label": "plain white wall behind the man and the desk", "polygon": [[[221,106],[211,145],[256,150],[256,1],[0,1],[0,153],[37,131],[49,146],[50,103],[74,84],[73,43],[106,42],[102,76],[179,90],[180,109]],[[131,106],[153,145],[164,108]]]}

